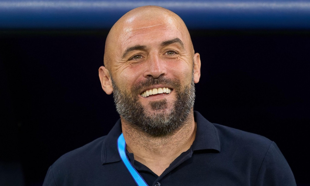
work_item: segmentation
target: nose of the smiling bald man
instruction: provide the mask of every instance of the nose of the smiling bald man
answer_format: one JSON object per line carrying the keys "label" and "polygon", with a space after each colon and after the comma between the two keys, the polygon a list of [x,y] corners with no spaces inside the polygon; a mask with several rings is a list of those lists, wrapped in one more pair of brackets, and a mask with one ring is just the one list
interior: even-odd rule
{"label": "nose of the smiling bald man", "polygon": [[166,63],[164,60],[160,59],[160,57],[154,55],[150,56],[150,58],[147,61],[146,70],[144,72],[144,77],[150,77],[158,78],[161,75],[166,75],[167,69],[166,69]]}

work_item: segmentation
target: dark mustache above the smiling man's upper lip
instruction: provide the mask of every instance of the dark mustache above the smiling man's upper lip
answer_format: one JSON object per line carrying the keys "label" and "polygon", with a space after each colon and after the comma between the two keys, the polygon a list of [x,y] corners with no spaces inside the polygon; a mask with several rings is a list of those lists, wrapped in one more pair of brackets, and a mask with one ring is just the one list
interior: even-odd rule
{"label": "dark mustache above the smiling man's upper lip", "polygon": [[159,84],[169,87],[179,87],[180,81],[178,79],[169,79],[163,76],[159,76],[158,78],[148,77],[133,86],[132,91],[136,94],[139,94],[140,92],[145,90],[145,87],[156,86]]}

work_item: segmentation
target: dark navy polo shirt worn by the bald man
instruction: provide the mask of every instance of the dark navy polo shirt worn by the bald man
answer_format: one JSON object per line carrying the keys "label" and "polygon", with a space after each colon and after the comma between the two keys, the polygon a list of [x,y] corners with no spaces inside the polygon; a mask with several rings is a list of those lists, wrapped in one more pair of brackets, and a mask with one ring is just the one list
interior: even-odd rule
{"label": "dark navy polo shirt worn by the bald man", "polygon": [[[127,156],[148,185],[296,185],[277,145],[269,139],[212,124],[194,112],[193,145],[157,176]],[[117,151],[122,133],[118,120],[108,135],[61,156],[50,166],[47,185],[136,185]]]}

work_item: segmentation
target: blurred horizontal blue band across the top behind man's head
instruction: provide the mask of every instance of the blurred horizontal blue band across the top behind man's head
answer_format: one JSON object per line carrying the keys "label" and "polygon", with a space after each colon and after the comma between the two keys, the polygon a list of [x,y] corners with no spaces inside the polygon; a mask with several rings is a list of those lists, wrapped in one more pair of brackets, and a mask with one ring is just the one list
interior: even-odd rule
{"label": "blurred horizontal blue band across the top behind man's head", "polygon": [[145,5],[175,12],[188,29],[310,29],[309,0],[0,0],[0,29],[110,29]]}

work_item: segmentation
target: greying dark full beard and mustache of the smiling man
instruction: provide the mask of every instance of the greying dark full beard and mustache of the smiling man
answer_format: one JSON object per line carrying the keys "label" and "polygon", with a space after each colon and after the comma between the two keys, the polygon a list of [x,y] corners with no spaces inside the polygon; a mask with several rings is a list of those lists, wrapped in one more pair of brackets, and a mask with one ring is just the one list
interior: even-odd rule
{"label": "greying dark full beard and mustache of the smiling man", "polygon": [[[167,79],[163,76],[158,78],[148,77],[144,81],[133,86],[131,90],[121,91],[113,81],[113,98],[116,110],[122,118],[132,127],[147,134],[159,137],[174,134],[187,122],[188,115],[192,111],[195,100],[195,85],[192,81],[188,86],[182,86],[177,79]],[[165,87],[174,87],[176,93],[172,109],[168,109],[166,99],[151,101],[149,106],[151,112],[139,101],[139,94],[145,90],[143,87],[155,86],[158,84]],[[153,111],[153,112],[152,112]]]}

